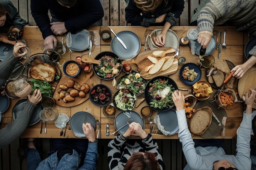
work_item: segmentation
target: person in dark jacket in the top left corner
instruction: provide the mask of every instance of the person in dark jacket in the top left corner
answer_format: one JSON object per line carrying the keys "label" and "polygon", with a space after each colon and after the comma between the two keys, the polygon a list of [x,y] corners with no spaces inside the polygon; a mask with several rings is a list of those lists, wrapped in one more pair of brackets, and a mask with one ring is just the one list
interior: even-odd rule
{"label": "person in dark jacket in the top left corner", "polygon": [[8,40],[7,33],[17,31],[21,34],[22,27],[27,23],[20,17],[18,10],[9,0],[0,0],[0,41],[15,45],[16,41]]}

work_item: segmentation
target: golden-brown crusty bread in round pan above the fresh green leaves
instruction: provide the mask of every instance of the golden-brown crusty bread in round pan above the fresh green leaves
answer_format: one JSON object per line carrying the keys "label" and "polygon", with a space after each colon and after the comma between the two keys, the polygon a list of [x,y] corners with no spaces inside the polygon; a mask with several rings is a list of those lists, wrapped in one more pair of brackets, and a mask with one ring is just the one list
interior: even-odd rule
{"label": "golden-brown crusty bread in round pan above the fresh green leaves", "polygon": [[46,81],[49,83],[54,82],[56,70],[50,64],[45,62],[40,62],[31,66],[29,75],[33,79]]}

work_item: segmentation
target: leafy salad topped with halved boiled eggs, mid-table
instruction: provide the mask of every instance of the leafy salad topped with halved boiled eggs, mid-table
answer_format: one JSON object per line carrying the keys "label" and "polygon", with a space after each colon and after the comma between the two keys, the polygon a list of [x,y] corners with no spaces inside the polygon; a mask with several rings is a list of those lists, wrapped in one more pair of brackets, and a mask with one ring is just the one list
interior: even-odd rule
{"label": "leafy salad topped with halved boiled eggs, mid-table", "polygon": [[119,80],[119,83],[117,84],[117,88],[126,88],[132,91],[136,96],[141,95],[144,93],[144,89],[146,87],[145,85],[146,80],[144,80],[139,73],[132,72],[130,74],[124,75]]}

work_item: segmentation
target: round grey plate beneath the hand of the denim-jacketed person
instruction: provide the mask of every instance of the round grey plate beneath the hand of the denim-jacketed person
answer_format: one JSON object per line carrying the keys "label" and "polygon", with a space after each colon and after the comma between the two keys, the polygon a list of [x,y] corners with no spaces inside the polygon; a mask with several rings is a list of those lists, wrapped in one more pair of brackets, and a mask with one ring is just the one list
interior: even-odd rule
{"label": "round grey plate beneath the hand of the denim-jacketed person", "polygon": [[82,125],[83,123],[90,123],[94,128],[97,128],[95,118],[88,112],[77,112],[70,119],[70,128],[72,132],[78,137],[85,137],[83,134]]}

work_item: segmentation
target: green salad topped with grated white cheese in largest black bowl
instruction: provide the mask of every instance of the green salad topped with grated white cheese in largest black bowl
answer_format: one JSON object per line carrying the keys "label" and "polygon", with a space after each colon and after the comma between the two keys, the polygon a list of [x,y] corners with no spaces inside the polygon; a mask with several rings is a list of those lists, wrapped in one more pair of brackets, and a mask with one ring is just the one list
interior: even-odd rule
{"label": "green salad topped with grated white cheese in largest black bowl", "polygon": [[175,91],[172,84],[168,84],[168,80],[156,79],[149,84],[148,94],[153,99],[149,105],[153,108],[168,108],[173,105],[172,93]]}

